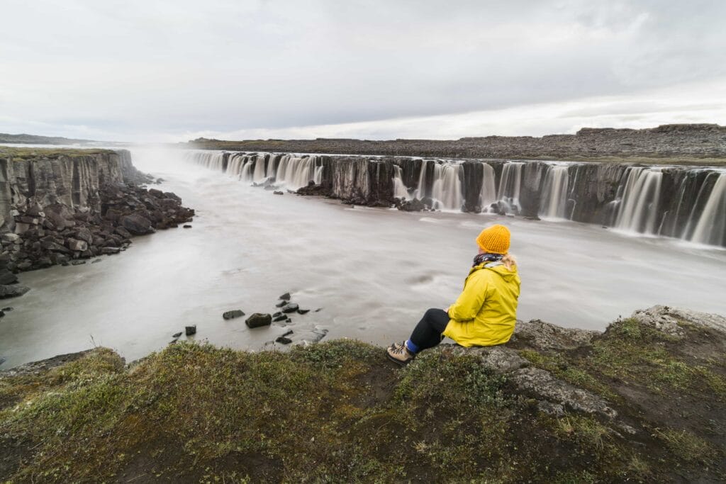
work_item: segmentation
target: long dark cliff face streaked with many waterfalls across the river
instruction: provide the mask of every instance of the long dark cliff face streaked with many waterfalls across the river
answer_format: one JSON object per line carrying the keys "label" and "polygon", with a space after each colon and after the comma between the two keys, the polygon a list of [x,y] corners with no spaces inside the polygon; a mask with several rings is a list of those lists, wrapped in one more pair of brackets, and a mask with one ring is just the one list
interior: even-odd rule
{"label": "long dark cliff face streaked with many waterfalls across the river", "polygon": [[208,151],[187,157],[242,181],[358,205],[563,218],[726,246],[720,168]]}

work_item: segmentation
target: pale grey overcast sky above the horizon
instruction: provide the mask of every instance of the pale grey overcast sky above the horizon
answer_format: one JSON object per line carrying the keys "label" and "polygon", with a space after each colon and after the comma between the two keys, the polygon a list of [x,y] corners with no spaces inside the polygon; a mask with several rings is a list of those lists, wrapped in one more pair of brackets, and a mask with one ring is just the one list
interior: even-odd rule
{"label": "pale grey overcast sky above the horizon", "polygon": [[0,132],[110,141],[726,124],[726,1],[2,0]]}

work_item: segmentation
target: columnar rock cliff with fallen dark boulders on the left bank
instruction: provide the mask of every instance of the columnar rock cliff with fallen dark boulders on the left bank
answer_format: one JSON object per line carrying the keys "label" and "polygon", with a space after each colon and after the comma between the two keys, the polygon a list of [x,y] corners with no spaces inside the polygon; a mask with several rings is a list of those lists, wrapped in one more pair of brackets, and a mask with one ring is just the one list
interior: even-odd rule
{"label": "columnar rock cliff with fallen dark boulders on the left bank", "polygon": [[128,151],[0,149],[0,298],[16,273],[118,254],[131,238],[187,223],[194,210],[131,163]]}

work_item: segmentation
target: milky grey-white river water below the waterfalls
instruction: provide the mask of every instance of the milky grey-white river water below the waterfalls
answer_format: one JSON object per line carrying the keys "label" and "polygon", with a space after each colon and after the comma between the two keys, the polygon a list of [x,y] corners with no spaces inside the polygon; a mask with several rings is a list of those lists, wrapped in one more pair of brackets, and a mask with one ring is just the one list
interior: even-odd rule
{"label": "milky grey-white river water below the waterfalls", "polygon": [[[474,238],[489,223],[513,233],[519,319],[604,329],[658,303],[726,314],[726,250],[716,247],[569,221],[351,208],[274,195],[184,163],[179,153],[132,153],[139,169],[166,180],[161,189],[197,210],[193,229],[137,237],[101,263],[20,274],[32,290],[3,301],[15,309],[0,319],[2,368],[94,344],[131,361],[187,324],[197,324],[197,340],[233,348],[261,348],[314,324],[330,329],[327,339],[402,340],[426,308],[456,298]],[[236,308],[272,313],[287,291],[301,307],[322,311],[293,315],[284,329],[221,318]]]}

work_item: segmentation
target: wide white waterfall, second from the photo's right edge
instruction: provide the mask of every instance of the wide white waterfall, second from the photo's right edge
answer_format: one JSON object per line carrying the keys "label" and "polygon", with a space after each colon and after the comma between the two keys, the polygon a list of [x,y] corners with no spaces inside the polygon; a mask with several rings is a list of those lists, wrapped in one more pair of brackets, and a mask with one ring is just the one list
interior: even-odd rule
{"label": "wide white waterfall, second from the photo's right edge", "polygon": [[615,223],[618,229],[656,234],[662,180],[660,168],[629,169]]}

